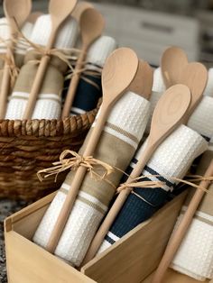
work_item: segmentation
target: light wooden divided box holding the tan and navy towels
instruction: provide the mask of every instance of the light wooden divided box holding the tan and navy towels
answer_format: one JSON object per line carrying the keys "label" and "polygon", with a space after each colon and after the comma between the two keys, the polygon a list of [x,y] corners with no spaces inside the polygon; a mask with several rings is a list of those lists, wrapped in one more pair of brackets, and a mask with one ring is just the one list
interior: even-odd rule
{"label": "light wooden divided box holding the tan and navy towels", "polygon": [[[31,242],[55,194],[5,220],[5,248],[9,283],[138,283],[150,282],[171,235],[186,193],[165,205],[153,218],[134,228],[119,242],[88,262],[80,271]],[[173,277],[175,273],[169,273]],[[175,275],[181,276],[181,275]],[[182,277],[182,276],[181,276]],[[186,278],[164,283],[197,282]]]}

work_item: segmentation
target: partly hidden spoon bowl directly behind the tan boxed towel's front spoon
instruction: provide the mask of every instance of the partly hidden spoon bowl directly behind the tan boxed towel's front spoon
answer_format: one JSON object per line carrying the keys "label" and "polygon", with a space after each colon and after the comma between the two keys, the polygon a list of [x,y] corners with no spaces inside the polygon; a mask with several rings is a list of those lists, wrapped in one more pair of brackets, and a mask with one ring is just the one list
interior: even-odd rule
{"label": "partly hidden spoon bowl directly behind the tan boxed towel's front spoon", "polygon": [[129,90],[149,100],[152,94],[152,87],[153,68],[147,62],[140,60],[136,76],[129,86]]}

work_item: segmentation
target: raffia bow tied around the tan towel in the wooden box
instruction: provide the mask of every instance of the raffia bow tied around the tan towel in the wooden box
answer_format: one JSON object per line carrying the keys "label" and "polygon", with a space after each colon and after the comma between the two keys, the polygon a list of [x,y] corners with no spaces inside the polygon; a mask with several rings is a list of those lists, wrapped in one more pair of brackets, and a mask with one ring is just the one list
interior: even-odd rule
{"label": "raffia bow tied around the tan towel in the wooden box", "polygon": [[[71,155],[72,157],[67,158],[69,155]],[[79,166],[83,166],[87,168],[88,172],[90,173],[90,176],[96,179],[105,179],[108,175],[110,175],[114,171],[113,167],[107,164],[106,162],[96,160],[92,156],[84,157],[79,155],[79,153],[75,151],[69,151],[69,150],[63,151],[60,154],[60,161],[54,162],[52,163],[52,165],[53,167],[51,168],[42,169],[38,171],[37,176],[40,179],[40,181],[42,181],[45,178],[49,178],[52,175],[56,175],[55,176],[55,181],[56,181],[60,172],[63,172],[67,169],[77,170]],[[99,175],[97,174],[97,172],[95,172],[94,169],[95,166],[97,165],[101,166],[105,170],[105,173],[103,175]]]}

